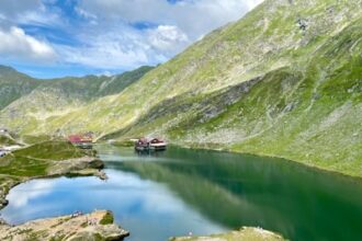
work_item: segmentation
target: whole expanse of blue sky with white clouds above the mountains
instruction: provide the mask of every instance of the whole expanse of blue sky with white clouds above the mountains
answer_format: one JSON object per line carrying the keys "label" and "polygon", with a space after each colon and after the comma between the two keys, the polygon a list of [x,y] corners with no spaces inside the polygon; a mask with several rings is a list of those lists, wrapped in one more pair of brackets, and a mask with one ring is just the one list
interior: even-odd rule
{"label": "whole expanse of blue sky with white clouds above the mountains", "polygon": [[37,78],[167,61],[262,0],[0,0],[0,65]]}

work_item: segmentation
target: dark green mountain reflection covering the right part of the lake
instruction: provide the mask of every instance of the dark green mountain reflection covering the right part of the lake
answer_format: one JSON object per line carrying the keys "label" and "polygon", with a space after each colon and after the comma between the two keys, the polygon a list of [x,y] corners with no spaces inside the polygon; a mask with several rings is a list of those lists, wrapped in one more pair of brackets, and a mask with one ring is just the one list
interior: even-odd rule
{"label": "dark green mountain reflection covering the right part of the lake", "polygon": [[161,161],[109,167],[168,185],[230,229],[259,226],[293,240],[360,240],[362,185],[353,179],[284,160],[178,148]]}

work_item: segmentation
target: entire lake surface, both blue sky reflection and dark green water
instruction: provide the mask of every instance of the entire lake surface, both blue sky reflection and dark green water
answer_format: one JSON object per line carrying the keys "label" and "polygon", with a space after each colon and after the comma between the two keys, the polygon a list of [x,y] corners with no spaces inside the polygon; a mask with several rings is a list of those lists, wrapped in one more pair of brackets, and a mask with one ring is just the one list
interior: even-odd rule
{"label": "entire lake surface, both blue sky reflection and dark green water", "polygon": [[108,181],[34,180],[10,191],[10,223],[110,209],[128,241],[261,227],[291,240],[361,240],[362,182],[272,158],[97,147]]}

